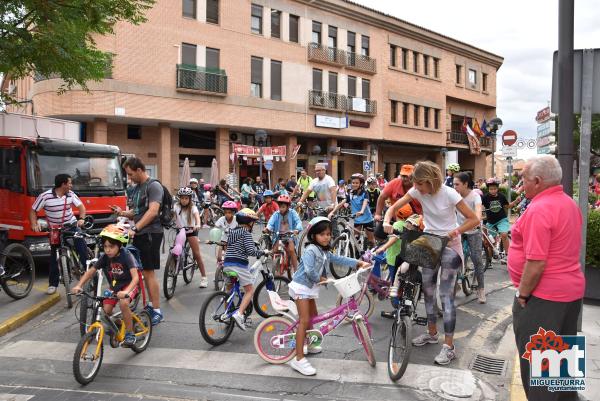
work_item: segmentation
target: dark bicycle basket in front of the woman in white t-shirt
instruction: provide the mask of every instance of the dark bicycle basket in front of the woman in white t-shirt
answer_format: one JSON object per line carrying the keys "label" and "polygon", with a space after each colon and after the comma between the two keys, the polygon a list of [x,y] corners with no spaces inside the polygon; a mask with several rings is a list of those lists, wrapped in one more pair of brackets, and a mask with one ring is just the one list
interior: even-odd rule
{"label": "dark bicycle basket in front of the woman in white t-shirt", "polygon": [[448,237],[431,233],[404,230],[400,255],[405,262],[412,265],[435,269],[440,263],[448,240]]}

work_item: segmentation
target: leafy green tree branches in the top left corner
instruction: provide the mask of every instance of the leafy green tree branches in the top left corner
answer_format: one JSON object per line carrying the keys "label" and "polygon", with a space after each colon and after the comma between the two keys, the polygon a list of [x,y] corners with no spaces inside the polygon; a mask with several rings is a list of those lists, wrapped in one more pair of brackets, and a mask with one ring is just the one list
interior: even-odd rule
{"label": "leafy green tree branches in the top left corner", "polygon": [[[135,25],[155,0],[1,0],[0,89],[7,79],[32,73],[58,76],[59,92],[99,81],[112,55],[99,50],[95,35],[110,35],[119,21]],[[0,92],[0,104],[17,101]]]}

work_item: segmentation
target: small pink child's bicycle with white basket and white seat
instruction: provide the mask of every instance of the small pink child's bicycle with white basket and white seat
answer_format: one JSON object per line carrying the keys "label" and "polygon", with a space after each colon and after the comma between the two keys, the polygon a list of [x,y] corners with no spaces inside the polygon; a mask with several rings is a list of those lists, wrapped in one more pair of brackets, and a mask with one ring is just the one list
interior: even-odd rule
{"label": "small pink child's bicycle with white basket and white seat", "polygon": [[[314,328],[306,332],[308,345],[321,345],[324,336],[335,330],[340,323],[349,319],[352,322],[354,335],[367,354],[367,361],[371,366],[375,366],[371,326],[367,317],[360,311],[356,300],[352,297],[362,289],[358,276],[370,272],[371,269],[372,267],[368,267],[342,279],[329,279],[325,282],[333,283],[340,295],[348,301],[328,312],[315,316],[311,320],[311,325]],[[298,310],[294,301],[284,301],[276,292],[269,291],[269,298],[273,308],[282,316],[270,317],[258,325],[254,332],[254,348],[266,362],[283,364],[296,356]]]}

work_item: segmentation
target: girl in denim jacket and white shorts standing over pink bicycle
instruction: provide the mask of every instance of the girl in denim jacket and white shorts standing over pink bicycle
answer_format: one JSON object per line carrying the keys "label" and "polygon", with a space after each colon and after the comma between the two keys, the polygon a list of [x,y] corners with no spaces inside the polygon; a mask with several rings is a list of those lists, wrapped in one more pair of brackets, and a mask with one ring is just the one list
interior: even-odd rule
{"label": "girl in denim jacket and white shorts standing over pink bicycle", "polygon": [[[298,308],[298,328],[296,330],[296,358],[292,359],[292,369],[305,376],[315,375],[316,369],[304,357],[304,342],[306,330],[309,330],[310,321],[317,316],[317,304],[315,300],[319,297],[320,282],[327,280],[327,269],[329,263],[343,266],[367,267],[367,262],[356,259],[337,256],[330,252],[331,221],[327,217],[315,217],[308,225],[307,240],[309,245],[302,252],[302,260],[298,270],[292,277],[289,285],[290,297],[296,302]],[[320,346],[308,346],[306,352],[318,354]]]}

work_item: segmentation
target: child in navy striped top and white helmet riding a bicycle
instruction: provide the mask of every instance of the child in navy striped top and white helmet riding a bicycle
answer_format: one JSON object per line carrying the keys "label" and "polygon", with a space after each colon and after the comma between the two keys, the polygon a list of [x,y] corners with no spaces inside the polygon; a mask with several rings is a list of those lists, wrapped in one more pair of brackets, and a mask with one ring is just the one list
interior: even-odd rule
{"label": "child in navy striped top and white helmet riding a bicycle", "polygon": [[239,283],[244,287],[244,297],[240,302],[240,307],[232,317],[235,324],[246,331],[244,312],[252,300],[255,279],[248,266],[248,257],[255,256],[258,258],[269,252],[261,250],[252,238],[252,227],[258,220],[254,210],[248,208],[240,210],[235,214],[235,220],[238,226],[231,229],[227,236],[227,251],[225,251],[223,271],[237,273]]}

